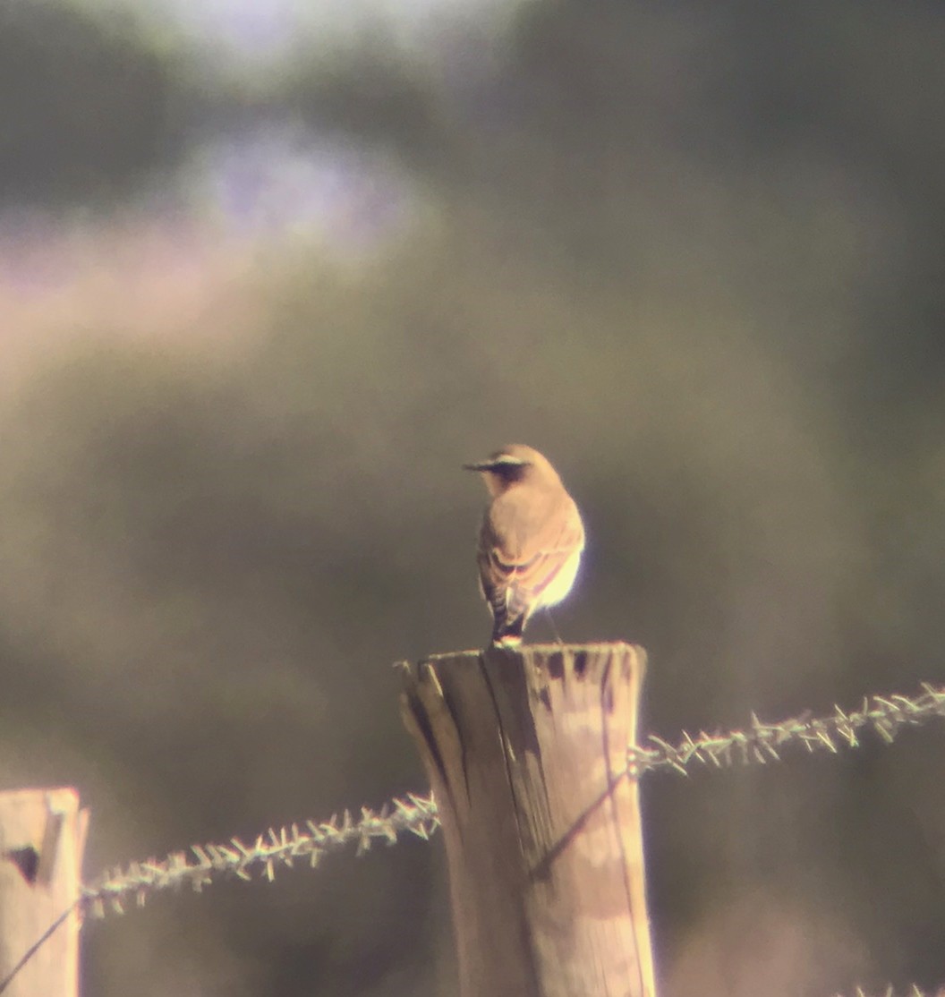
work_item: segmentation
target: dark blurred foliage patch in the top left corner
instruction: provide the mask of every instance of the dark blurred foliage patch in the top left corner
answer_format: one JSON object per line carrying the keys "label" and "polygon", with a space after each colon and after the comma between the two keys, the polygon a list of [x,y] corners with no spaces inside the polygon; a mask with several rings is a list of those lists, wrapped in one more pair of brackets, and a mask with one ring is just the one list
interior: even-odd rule
{"label": "dark blurred foliage patch in the top left corner", "polygon": [[183,142],[183,53],[128,17],[0,4],[0,204],[108,203]]}

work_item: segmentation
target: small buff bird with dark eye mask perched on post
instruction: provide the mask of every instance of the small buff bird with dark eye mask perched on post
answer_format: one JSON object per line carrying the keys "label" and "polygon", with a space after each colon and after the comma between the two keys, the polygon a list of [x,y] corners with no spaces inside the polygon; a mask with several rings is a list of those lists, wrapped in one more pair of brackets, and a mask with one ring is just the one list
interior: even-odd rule
{"label": "small buff bird with dark eye mask perched on post", "polygon": [[531,447],[509,444],[463,467],[481,474],[491,496],[476,561],[479,591],[492,614],[492,644],[515,646],[532,613],[570,592],[584,524],[551,462]]}

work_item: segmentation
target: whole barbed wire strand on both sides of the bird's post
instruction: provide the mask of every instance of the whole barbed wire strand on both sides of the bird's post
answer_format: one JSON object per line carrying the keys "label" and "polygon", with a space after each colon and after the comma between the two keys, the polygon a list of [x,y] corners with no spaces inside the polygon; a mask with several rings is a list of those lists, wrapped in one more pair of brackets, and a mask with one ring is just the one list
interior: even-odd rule
{"label": "whole barbed wire strand on both sides of the bird's post", "polygon": [[[700,732],[696,737],[684,731],[676,744],[651,734],[643,744],[628,748],[628,772],[640,778],[660,771],[688,775],[689,768],[695,766],[765,764],[780,761],[782,749],[789,745],[803,746],[810,753],[836,754],[841,746],[856,748],[859,735],[869,730],[889,744],[901,728],[917,727],[945,716],[945,687],[923,684],[922,689],[915,697],[866,697],[859,710],[850,712],[834,706],[833,713],[823,717],[803,714],[766,724],[753,714],[751,726],[745,730]],[[376,839],[393,844],[404,832],[427,838],[439,826],[433,797],[409,794],[403,800],[385,804],[379,811],[364,807],[357,819],[346,811],[340,818],[334,816],[327,822],[308,821],[304,827],[293,824],[270,829],[252,845],[237,837],[222,844],[192,844],[189,855],[186,851],[175,851],[160,860],[151,858],[107,870],[98,880],[83,887],[82,905],[94,916],[104,916],[110,910],[121,913],[130,898],[142,906],[152,893],[160,890],[185,884],[200,890],[226,875],[250,879],[253,872],[261,871],[272,879],[277,866],[291,866],[295,859],[307,858],[315,866],[323,855],[350,844],[355,844],[361,854]]]}

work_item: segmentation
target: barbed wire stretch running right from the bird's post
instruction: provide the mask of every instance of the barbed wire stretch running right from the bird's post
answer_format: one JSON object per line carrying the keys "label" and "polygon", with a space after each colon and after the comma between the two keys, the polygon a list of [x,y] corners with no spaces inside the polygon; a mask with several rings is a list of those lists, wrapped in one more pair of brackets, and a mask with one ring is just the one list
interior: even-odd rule
{"label": "barbed wire stretch running right from the bird's post", "polygon": [[844,713],[838,706],[825,717],[803,714],[766,724],[752,714],[751,726],[745,730],[718,734],[683,733],[677,744],[651,734],[643,744],[627,750],[627,764],[637,778],[648,772],[670,770],[688,775],[695,764],[707,768],[727,768],[742,764],[781,761],[781,750],[802,745],[807,752],[828,751],[836,754],[840,746],[857,748],[859,736],[873,731],[883,742],[891,744],[902,727],[917,727],[935,717],[945,717],[945,687],[923,683],[923,692],[908,696],[872,696],[863,699],[862,707]]}

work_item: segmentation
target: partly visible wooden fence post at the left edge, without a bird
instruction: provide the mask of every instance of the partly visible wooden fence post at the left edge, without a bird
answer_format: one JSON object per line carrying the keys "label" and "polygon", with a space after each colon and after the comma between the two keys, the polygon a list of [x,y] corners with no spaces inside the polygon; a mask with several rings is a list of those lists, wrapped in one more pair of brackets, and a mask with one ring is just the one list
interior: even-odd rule
{"label": "partly visible wooden fence post at the left edge, without a bird", "polygon": [[[89,812],[71,789],[0,793],[0,981],[79,898]],[[4,997],[77,997],[74,910],[16,973]]]}

